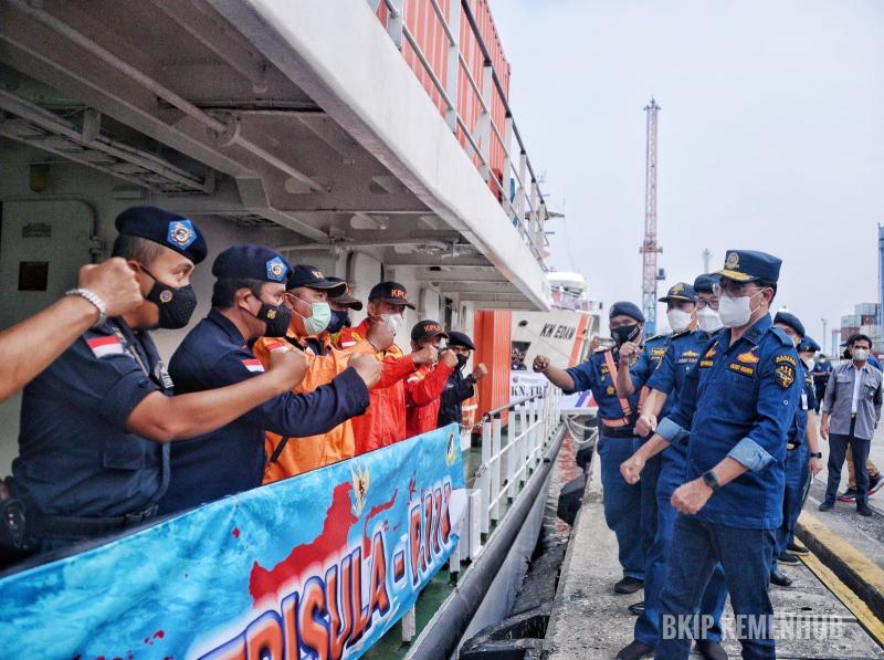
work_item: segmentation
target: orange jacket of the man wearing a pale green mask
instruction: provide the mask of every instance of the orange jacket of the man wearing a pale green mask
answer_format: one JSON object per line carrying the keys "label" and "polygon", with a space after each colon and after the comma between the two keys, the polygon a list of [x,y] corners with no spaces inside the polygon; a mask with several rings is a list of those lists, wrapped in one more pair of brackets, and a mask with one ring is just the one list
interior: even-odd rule
{"label": "orange jacket of the man wearing a pale green mask", "polygon": [[[304,355],[307,357],[307,373],[304,376],[304,380],[292,388],[295,394],[309,392],[320,385],[332,383],[335,376],[347,368],[350,355],[355,352],[373,350],[368,342],[355,344],[347,350],[339,350],[332,346],[328,333],[323,333],[316,337],[323,344],[323,355],[317,355],[304,338],[296,337],[291,329],[288,331],[287,339],[291,344],[304,350]],[[255,354],[255,357],[261,360],[265,368],[270,365],[267,346],[278,341],[275,337],[261,337],[252,347],[252,353]],[[264,437],[264,448],[267,459],[270,459],[282,440],[282,436],[266,431]],[[349,419],[330,431],[318,436],[291,438],[278,459],[274,463],[267,464],[264,471],[264,483],[272,483],[343,461],[352,457],[354,452],[354,428]]]}

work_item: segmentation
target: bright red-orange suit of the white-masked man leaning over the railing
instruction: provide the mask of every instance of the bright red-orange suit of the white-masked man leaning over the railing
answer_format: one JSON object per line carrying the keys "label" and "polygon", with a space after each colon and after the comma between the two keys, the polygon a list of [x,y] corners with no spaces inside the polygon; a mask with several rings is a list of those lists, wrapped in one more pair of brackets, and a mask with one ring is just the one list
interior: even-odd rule
{"label": "bright red-orange suit of the white-masked man leaning over the railing", "polygon": [[[338,347],[352,350],[368,336],[368,326],[366,318],[356,327],[345,327],[338,334]],[[368,392],[368,410],[351,420],[357,455],[408,438],[404,379],[414,373],[414,363],[396,344],[375,355],[383,363],[380,380]]]}

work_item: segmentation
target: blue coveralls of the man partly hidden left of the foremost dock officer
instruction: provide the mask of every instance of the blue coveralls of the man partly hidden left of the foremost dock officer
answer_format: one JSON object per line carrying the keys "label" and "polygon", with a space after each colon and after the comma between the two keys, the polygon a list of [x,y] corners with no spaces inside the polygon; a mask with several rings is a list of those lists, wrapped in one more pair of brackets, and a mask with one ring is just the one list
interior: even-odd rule
{"label": "blue coveralls of the man partly hidden left of the foremost dock officer", "polygon": [[[703,331],[676,335],[670,342],[663,362],[648,380],[648,387],[664,392],[666,404],[660,411],[660,419],[671,410],[682,392],[687,371],[696,365],[701,350],[708,343],[709,335]],[[686,442],[675,442],[659,454],[662,464],[656,484],[656,534],[644,564],[644,611],[635,621],[634,638],[649,647],[655,647],[660,639],[660,594],[666,583],[666,562],[672,546],[672,530],[677,512],[672,506],[672,493],[685,480],[687,471]],[[642,481],[645,479],[642,470]],[[701,614],[711,614],[714,626],[706,636],[712,641],[722,640],[722,611],[727,600],[727,587],[720,565],[715,567],[709,584],[703,595]]]}

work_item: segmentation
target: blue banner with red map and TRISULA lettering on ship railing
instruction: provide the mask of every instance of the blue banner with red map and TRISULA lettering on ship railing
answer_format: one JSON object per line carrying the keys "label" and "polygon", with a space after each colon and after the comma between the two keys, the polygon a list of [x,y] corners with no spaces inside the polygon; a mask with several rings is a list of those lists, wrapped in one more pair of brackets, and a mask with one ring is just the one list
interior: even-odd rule
{"label": "blue banner with red map and TRISULA lettering on ship railing", "polygon": [[2,654],[358,658],[457,543],[459,442],[452,425],[9,576]]}

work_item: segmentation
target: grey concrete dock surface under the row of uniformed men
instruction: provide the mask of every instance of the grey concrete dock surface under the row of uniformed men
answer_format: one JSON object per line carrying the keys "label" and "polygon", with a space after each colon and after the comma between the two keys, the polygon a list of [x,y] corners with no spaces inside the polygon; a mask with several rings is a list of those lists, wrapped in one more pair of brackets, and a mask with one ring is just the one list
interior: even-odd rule
{"label": "grey concrete dock surface under the row of uniformed men", "polygon": [[[814,485],[814,489],[818,486]],[[817,491],[819,492],[819,491]],[[806,512],[815,513],[815,503],[808,501]],[[818,514],[822,516],[822,514]],[[884,559],[882,546],[867,545],[866,536],[862,539],[862,549],[851,555],[851,538],[848,523],[823,518],[829,524],[824,530],[810,515],[802,515],[806,523],[802,532],[807,533],[811,549],[820,557],[825,557],[825,547],[832,548],[830,554],[851,558],[876,554],[862,566],[852,566],[859,572],[860,580],[876,583],[874,573],[876,561]],[[884,518],[877,517],[877,525]],[[833,528],[840,530],[834,532]],[[812,537],[811,537],[812,536]],[[833,541],[834,539],[834,541]],[[843,545],[840,545],[843,544]],[[796,567],[783,570],[793,579],[791,587],[771,587],[771,597],[777,621],[797,621],[804,625],[783,625],[785,633],[777,641],[779,658],[801,659],[870,659],[884,658],[884,624],[882,611],[873,610],[839,577],[842,569],[835,570],[825,566],[817,554]],[[842,567],[843,568],[843,567]],[[846,574],[844,574],[846,575]],[[598,457],[593,457],[587,480],[583,505],[571,532],[571,541],[565,564],[561,569],[552,616],[546,633],[545,656],[561,660],[578,658],[609,659],[632,641],[635,617],[627,609],[629,605],[642,600],[642,593],[631,596],[617,595],[613,585],[622,577],[617,561],[617,541],[604,523],[602,512],[602,486]],[[832,617],[836,621],[830,626],[830,635],[811,626],[811,621],[821,616]],[[725,630],[733,630],[733,611],[725,610]],[[876,639],[877,637],[877,639]],[[728,654],[739,658],[740,645],[732,638],[725,639]]]}

